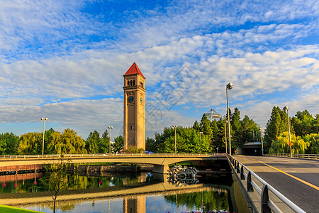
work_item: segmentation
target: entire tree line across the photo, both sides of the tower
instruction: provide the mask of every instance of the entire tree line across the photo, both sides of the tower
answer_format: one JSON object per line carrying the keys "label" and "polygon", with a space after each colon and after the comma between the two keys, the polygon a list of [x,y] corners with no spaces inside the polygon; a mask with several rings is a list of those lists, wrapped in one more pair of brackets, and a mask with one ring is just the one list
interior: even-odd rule
{"label": "entire tree line across the photo, both sides of the tower", "polygon": [[[307,110],[298,111],[290,117],[291,142],[293,153],[319,153],[319,114],[313,117]],[[216,153],[225,152],[225,133],[228,134],[226,116],[218,120],[208,120],[203,114],[201,121],[193,126],[178,126],[175,129],[165,127],[155,138],[147,138],[146,150],[155,153],[174,153],[175,141],[177,153]],[[231,146],[234,152],[246,142],[261,141],[260,126],[247,115],[241,119],[240,110],[230,111]],[[176,137],[176,139],[175,139]],[[272,114],[264,131],[265,153],[289,153],[288,118],[286,111],[279,107]],[[25,133],[16,136],[13,133],[0,134],[0,155],[42,154],[43,133]],[[108,153],[110,140],[108,131],[100,136],[98,131],[89,133],[84,141],[74,130],[65,129],[62,133],[49,129],[45,131],[45,154],[63,153]],[[114,138],[111,152],[123,150],[123,136]],[[130,148],[129,152],[142,150]]]}

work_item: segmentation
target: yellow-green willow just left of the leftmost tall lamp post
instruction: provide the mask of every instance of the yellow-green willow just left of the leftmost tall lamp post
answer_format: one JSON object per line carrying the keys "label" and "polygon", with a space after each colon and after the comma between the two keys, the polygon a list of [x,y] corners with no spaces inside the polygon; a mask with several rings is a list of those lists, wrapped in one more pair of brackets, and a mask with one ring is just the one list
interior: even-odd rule
{"label": "yellow-green willow just left of the leftmost tall lamp post", "polygon": [[39,132],[29,132],[20,136],[18,147],[19,155],[42,154],[43,134]]}

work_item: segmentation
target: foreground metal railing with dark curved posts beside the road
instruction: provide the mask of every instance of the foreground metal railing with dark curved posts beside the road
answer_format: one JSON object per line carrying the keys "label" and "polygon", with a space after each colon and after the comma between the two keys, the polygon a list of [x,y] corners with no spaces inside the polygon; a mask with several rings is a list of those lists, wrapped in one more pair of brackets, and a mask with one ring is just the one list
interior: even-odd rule
{"label": "foreground metal railing with dark curved posts beside the road", "polygon": [[[274,187],[269,185],[266,181],[262,180],[258,175],[256,175],[252,170],[248,169],[245,165],[240,163],[238,160],[233,158],[232,156],[228,155],[228,160],[231,164],[231,167],[233,169],[234,175],[237,176],[237,173],[240,174],[240,177],[237,176],[238,180],[242,182],[242,185],[244,186],[243,182],[246,180],[246,188],[245,192],[250,194],[251,192],[258,192],[260,195],[260,203],[261,203],[261,212],[281,212],[281,209],[274,204],[272,200],[269,200],[269,191],[272,192],[276,197],[278,197],[284,204],[286,204],[289,208],[291,208],[294,212],[303,212],[303,209],[298,207],[296,204],[291,202],[288,198],[286,198],[284,195],[282,195],[280,192],[278,192]],[[252,180],[252,177],[254,177],[256,180],[258,180],[262,185],[262,189]]]}

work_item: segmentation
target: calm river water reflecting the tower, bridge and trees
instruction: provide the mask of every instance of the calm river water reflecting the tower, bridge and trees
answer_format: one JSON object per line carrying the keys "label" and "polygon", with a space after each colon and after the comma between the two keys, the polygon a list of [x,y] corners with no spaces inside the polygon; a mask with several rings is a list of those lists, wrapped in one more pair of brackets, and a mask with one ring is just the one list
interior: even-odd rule
{"label": "calm river water reflecting the tower, bridge and trees", "polygon": [[[2,175],[0,204],[53,212],[54,178],[48,173]],[[152,173],[67,174],[60,185],[55,212],[249,212],[232,174],[200,174],[184,182]]]}

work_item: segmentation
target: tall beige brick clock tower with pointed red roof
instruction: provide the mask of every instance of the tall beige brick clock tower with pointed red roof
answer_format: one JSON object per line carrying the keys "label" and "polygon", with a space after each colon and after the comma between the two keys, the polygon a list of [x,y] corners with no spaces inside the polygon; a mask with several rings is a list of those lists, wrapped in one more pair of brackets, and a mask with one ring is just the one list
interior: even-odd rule
{"label": "tall beige brick clock tower with pointed red roof", "polygon": [[133,63],[124,77],[124,151],[145,150],[145,77]]}

